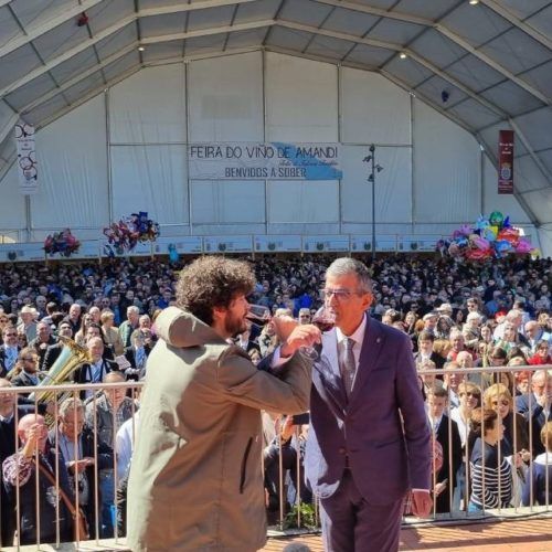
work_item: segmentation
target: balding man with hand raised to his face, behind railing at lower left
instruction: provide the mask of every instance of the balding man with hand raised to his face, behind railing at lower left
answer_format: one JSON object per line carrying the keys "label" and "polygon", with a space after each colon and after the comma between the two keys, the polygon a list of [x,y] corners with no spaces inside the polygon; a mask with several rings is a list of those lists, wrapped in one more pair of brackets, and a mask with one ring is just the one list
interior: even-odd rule
{"label": "balding man with hand raised to his face, behind railing at lower left", "polygon": [[[36,492],[36,470],[45,470],[54,479],[57,471],[61,489],[74,502],[64,464],[59,463],[55,467],[56,455],[47,445],[47,427],[44,418],[35,414],[23,416],[19,421],[18,435],[23,447],[19,453],[6,459],[2,471],[6,490],[12,503],[15,503],[15,493],[19,487],[19,544],[35,544],[38,542],[36,526],[40,527],[41,543],[55,542],[57,520],[60,541],[70,542],[73,540],[71,513],[63,500],[60,500],[54,486],[43,474],[40,474],[38,478],[39,492]],[[38,468],[38,464],[41,466],[40,468]],[[36,497],[39,497],[39,508],[35,503]],[[36,522],[38,511],[40,511],[40,523]]]}

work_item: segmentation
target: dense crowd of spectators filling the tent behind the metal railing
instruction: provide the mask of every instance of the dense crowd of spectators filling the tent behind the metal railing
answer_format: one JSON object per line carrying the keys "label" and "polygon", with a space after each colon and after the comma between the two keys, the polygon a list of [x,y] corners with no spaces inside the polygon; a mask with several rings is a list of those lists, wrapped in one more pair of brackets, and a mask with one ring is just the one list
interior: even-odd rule
{"label": "dense crowd of spectators filling the tent behind the metal railing", "polygon": [[[257,284],[248,302],[309,323],[322,304],[320,289],[331,261],[321,255],[252,258]],[[180,268],[158,261],[112,259],[0,269],[0,388],[40,384],[67,347],[65,338],[77,343],[86,360],[74,372],[75,383],[144,379],[158,339],[156,319],[174,305]],[[370,315],[411,338],[434,457],[440,457],[433,474],[438,513],[552,501],[545,486],[552,477],[552,367],[546,368],[552,364],[551,268],[550,259],[466,264],[410,255],[382,256],[370,265]],[[257,322],[235,339],[255,364],[278,346],[274,325]],[[543,368],[485,373],[488,367],[506,365]],[[463,376],[467,368],[482,372]],[[20,511],[24,509],[21,544],[39,538],[55,541],[56,519],[62,540],[72,537],[74,512],[64,501],[56,511],[60,497],[47,477],[36,478],[39,470],[54,476],[78,503],[92,537],[96,527],[102,537],[113,535],[117,524],[124,531],[115,493],[124,502],[138,394],[106,389],[65,397],[55,407],[56,427],[46,424],[52,408],[41,404],[36,415],[32,400],[0,393],[2,544],[13,541],[17,520],[10,505],[15,495]],[[301,464],[309,421],[308,413],[263,416],[266,507],[274,517],[299,498],[312,500]]]}

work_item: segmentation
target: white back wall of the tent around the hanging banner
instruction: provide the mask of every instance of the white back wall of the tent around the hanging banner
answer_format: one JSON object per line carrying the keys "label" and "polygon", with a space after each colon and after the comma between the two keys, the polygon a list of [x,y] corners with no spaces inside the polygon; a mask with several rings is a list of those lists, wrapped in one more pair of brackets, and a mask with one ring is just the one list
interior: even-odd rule
{"label": "white back wall of the tent around the hanging banner", "polygon": [[[190,181],[191,141],[340,142],[343,179]],[[32,236],[99,236],[137,210],[168,233],[370,234],[370,144],[379,233],[446,234],[493,210],[529,223],[475,138],[381,75],[258,51],[144,68],[41,130]],[[0,226],[25,229],[13,170],[0,193]]]}

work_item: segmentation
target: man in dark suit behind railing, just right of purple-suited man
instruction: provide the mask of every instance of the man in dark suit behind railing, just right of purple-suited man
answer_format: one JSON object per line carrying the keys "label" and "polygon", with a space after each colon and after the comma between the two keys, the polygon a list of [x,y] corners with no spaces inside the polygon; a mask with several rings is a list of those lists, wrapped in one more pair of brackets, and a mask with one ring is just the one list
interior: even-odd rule
{"label": "man in dark suit behind railing, just right of purple-suited man", "polygon": [[[460,434],[456,422],[445,414],[447,402],[448,391],[443,385],[429,388],[427,391],[427,416],[433,438],[443,448],[443,466],[435,481],[432,481],[436,513],[450,511],[453,491],[456,487],[456,473],[461,464]],[[434,482],[435,485],[433,485]]]}

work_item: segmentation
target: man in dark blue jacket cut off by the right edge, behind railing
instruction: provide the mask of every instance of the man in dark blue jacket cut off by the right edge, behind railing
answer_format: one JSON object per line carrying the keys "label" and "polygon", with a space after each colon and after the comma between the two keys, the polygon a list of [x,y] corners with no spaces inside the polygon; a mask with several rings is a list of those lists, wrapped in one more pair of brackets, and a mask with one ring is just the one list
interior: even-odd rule
{"label": "man in dark blue jacket cut off by the right edge, behind railing", "polygon": [[552,376],[546,370],[537,370],[531,379],[532,391],[516,397],[516,410],[532,425],[533,456],[546,452],[537,437],[546,422],[552,421]]}

